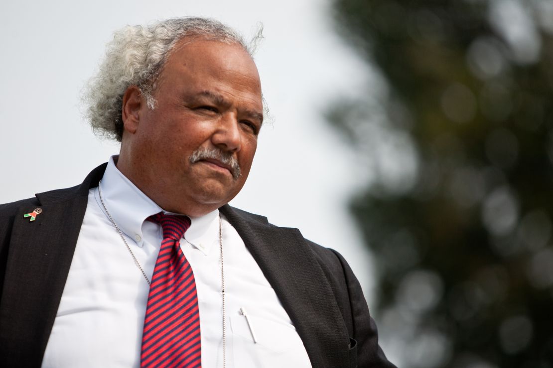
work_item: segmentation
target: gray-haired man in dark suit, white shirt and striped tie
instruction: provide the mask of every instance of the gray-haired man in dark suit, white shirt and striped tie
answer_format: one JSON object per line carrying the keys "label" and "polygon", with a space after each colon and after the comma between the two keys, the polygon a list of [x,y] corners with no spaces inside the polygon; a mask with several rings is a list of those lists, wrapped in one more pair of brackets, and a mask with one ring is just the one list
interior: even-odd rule
{"label": "gray-haired man in dark suit, white shirt and striped tie", "polygon": [[341,255],[227,205],[263,122],[233,30],[129,26],[88,102],[119,155],[0,206],[4,366],[393,367]]}

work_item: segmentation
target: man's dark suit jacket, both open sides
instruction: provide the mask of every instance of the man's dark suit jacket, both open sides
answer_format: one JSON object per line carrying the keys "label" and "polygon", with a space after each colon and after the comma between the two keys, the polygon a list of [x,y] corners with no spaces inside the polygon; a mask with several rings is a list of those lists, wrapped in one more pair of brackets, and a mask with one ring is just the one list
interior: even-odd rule
{"label": "man's dark suit jacket, both open sides", "polygon": [[[0,364],[39,367],[58,311],[85,215],[88,190],[106,164],[81,185],[0,205]],[[35,208],[35,221],[23,217]],[[228,205],[236,228],[294,322],[314,367],[393,367],[378,346],[361,287],[333,250],[294,228]]]}

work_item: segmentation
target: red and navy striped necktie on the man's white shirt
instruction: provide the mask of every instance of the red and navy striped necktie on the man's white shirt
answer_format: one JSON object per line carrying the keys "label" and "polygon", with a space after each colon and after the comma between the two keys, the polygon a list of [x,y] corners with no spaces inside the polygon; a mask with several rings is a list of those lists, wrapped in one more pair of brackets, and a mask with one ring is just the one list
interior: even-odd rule
{"label": "red and navy striped necktie on the man's white shirt", "polygon": [[196,282],[180,249],[190,218],[160,212],[148,220],[161,225],[163,241],[148,294],[140,366],[201,367]]}

